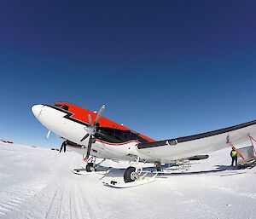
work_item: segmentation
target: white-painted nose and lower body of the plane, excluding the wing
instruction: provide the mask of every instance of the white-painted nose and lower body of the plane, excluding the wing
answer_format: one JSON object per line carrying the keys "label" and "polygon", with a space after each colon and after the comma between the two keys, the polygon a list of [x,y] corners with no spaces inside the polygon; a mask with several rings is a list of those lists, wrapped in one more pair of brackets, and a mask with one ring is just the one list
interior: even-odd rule
{"label": "white-painted nose and lower body of the plane, excluding the wing", "polygon": [[[84,130],[86,127],[84,124],[65,118],[67,112],[61,112],[54,107],[35,105],[32,107],[32,112],[47,129],[64,139],[81,145],[81,147],[67,145],[68,149],[76,153],[86,154],[89,138],[81,142],[81,139],[87,134]],[[96,142],[91,146],[90,154],[97,158],[134,160],[134,156],[138,156],[137,143],[138,141],[109,143],[96,139]]]}

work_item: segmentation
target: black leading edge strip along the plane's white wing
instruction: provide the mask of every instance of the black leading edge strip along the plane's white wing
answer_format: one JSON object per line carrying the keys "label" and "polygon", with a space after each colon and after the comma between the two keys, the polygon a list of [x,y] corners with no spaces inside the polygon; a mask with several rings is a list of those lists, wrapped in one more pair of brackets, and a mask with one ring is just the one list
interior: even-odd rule
{"label": "black leading edge strip along the plane's white wing", "polygon": [[148,142],[148,143],[141,143],[139,144],[137,147],[138,149],[143,149],[143,148],[148,148],[148,147],[159,147],[159,146],[165,146],[165,145],[175,145],[177,143],[182,143],[185,141],[194,141],[194,140],[198,140],[201,138],[206,138],[206,137],[210,137],[213,135],[220,135],[220,134],[224,134],[233,130],[240,130],[242,128],[245,128],[247,126],[256,124],[256,120],[253,120],[251,122],[247,122],[244,124],[237,124],[228,128],[224,128],[221,130],[213,130],[213,131],[208,131],[205,133],[201,133],[201,134],[197,134],[197,135],[189,135],[189,136],[185,136],[185,137],[179,137],[179,138],[174,138],[174,139],[168,139],[168,140],[164,140],[164,141],[154,141],[154,142]]}

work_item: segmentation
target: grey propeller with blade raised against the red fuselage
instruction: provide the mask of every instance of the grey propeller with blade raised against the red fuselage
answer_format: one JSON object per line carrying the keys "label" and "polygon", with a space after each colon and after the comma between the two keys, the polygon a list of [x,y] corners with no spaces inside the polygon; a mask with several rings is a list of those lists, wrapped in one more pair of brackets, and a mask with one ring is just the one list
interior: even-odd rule
{"label": "grey propeller with blade raised against the red fuselage", "polygon": [[84,130],[87,132],[87,134],[84,135],[84,137],[80,140],[80,141],[84,141],[86,138],[88,138],[90,136],[85,158],[89,158],[89,156],[90,156],[91,144],[93,143],[94,135],[96,134],[96,124],[98,124],[99,119],[102,117],[102,113],[103,113],[104,109],[105,109],[105,105],[102,105],[102,107],[100,108],[99,112],[96,115],[96,118],[95,118],[93,124],[92,124],[91,116],[90,116],[90,114],[88,114],[89,126],[84,127]]}

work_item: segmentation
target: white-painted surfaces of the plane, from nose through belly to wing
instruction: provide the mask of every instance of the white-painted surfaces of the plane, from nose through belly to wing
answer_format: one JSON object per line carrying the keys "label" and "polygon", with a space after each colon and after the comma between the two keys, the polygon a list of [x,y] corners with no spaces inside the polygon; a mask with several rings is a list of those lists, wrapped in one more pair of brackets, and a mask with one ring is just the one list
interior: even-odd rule
{"label": "white-painted surfaces of the plane, from nose through belly to wing", "polygon": [[[49,130],[77,144],[67,145],[68,149],[84,155],[87,153],[89,137],[85,138],[84,141],[81,140],[86,134],[90,134],[86,132],[89,124],[77,118],[71,118],[71,112],[47,105],[35,105],[32,107],[32,112],[40,123]],[[139,142],[136,140],[111,143],[96,139],[91,145],[90,155],[97,158],[128,161],[134,161],[135,158],[139,157],[140,160],[148,163],[156,161],[170,163],[173,160],[208,154],[224,147],[230,147],[230,142],[240,144],[247,141],[248,136],[256,138],[256,120],[222,130],[202,133],[200,137],[197,135],[181,137],[181,139],[189,138],[188,141],[180,141],[180,138],[170,140],[170,144],[169,140],[165,140],[163,144],[160,141],[154,141],[148,143],[149,145],[146,147],[147,143],[138,144]],[[150,146],[151,143],[155,145]]]}

